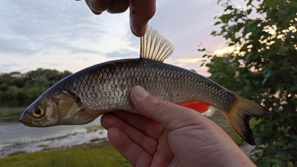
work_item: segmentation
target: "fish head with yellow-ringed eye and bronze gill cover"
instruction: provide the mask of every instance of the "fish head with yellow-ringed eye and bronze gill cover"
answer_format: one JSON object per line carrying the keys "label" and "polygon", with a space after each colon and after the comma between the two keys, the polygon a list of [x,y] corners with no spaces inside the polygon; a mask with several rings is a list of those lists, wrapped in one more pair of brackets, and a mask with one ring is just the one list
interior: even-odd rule
{"label": "fish head with yellow-ringed eye and bronze gill cover", "polygon": [[19,121],[29,127],[67,125],[80,106],[80,100],[67,91],[49,89],[23,112]]}

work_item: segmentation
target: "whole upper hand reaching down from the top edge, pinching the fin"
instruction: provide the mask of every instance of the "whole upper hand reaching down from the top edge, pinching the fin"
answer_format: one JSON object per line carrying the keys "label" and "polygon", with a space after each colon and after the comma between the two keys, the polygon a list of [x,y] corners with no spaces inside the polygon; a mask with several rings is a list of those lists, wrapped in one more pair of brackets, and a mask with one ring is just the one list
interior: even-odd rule
{"label": "whole upper hand reaching down from the top edge, pinching the fin", "polygon": [[[77,0],[80,1],[80,0]],[[130,6],[130,28],[135,36],[146,33],[146,25],[156,12],[156,0],[85,0],[95,15],[125,12]]]}

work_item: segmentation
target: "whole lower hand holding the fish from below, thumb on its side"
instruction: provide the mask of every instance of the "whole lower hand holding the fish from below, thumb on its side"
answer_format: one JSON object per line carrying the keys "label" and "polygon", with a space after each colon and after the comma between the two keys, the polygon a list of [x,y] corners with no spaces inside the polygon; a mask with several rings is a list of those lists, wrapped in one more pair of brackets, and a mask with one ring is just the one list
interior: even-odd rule
{"label": "whole lower hand holding the fish from below, thumb on its side", "polygon": [[135,86],[130,97],[140,114],[104,114],[110,143],[134,167],[255,167],[214,122]]}

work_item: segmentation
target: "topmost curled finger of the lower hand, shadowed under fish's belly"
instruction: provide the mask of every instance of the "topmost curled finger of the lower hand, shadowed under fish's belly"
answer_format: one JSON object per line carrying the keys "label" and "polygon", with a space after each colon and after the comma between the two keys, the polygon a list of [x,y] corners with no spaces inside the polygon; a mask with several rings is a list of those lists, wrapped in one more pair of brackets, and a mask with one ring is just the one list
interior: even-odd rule
{"label": "topmost curled finger of the lower hand, shadowed under fish's belly", "polygon": [[163,133],[162,125],[143,115],[126,111],[113,112],[113,114],[155,140],[158,140]]}

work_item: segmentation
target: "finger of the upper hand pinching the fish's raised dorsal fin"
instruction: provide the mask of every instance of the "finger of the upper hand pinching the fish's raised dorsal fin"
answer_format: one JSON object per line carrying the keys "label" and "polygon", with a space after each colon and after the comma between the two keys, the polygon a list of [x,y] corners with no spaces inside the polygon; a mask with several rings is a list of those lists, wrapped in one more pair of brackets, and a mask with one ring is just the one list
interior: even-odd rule
{"label": "finger of the upper hand pinching the fish's raised dorsal fin", "polygon": [[146,25],[156,12],[156,0],[131,0],[130,28],[136,36],[146,33]]}

